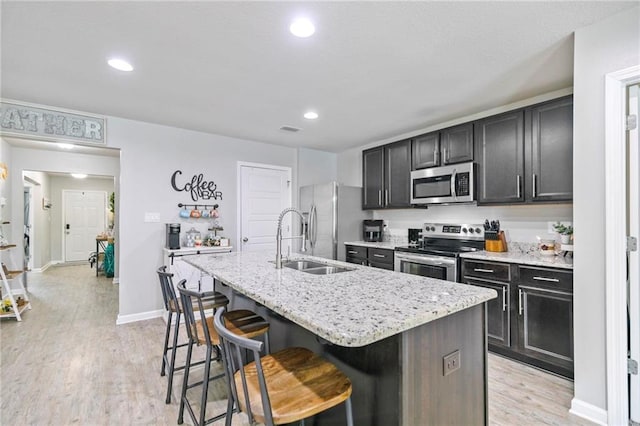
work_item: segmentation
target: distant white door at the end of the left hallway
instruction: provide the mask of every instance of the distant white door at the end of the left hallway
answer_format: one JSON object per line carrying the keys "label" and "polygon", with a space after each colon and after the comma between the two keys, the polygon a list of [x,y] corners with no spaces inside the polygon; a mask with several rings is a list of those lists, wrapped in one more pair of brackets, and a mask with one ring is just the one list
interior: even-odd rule
{"label": "distant white door at the end of the left hallway", "polygon": [[65,190],[62,195],[65,261],[87,260],[96,249],[96,236],[105,230],[107,193]]}

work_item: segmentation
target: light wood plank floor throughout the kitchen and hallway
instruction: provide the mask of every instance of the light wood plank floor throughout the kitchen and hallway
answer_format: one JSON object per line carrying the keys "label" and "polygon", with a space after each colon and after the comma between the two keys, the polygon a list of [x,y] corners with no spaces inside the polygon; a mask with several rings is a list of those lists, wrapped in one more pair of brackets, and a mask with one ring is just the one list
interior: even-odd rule
{"label": "light wood plank floor throughout the kitchen and hallway", "polygon": [[[165,404],[161,319],[116,326],[118,286],[88,265],[28,279],[33,310],[21,323],[0,321],[1,425],[176,424],[182,375]],[[492,425],[590,424],[568,413],[572,394],[570,381],[489,356]],[[212,384],[209,401],[211,415],[224,411],[221,381]],[[248,422],[235,415],[233,424]]]}

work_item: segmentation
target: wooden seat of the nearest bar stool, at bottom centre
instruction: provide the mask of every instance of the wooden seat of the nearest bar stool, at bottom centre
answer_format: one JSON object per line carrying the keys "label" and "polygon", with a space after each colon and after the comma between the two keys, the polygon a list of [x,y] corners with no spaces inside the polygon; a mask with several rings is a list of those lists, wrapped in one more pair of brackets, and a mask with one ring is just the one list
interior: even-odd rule
{"label": "wooden seat of the nearest bar stool, at bottom centre", "polygon": [[[293,423],[334,407],[351,396],[351,381],[335,365],[305,348],[287,348],[260,359],[267,383],[274,424]],[[244,367],[251,412],[266,423],[256,363]],[[234,375],[238,395],[243,394],[240,371]],[[239,397],[242,411],[245,399]]]}

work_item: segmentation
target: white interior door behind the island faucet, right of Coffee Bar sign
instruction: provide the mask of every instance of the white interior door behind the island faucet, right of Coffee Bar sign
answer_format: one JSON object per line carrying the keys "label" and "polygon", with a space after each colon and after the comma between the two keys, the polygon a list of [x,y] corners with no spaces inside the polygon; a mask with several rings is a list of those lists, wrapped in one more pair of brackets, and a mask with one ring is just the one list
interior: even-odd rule
{"label": "white interior door behind the island faucet, right of Coffee Bar sign", "polygon": [[[280,212],[291,206],[291,169],[239,164],[241,251],[273,250]],[[291,216],[283,224],[283,236],[291,232]],[[283,241],[283,253],[287,243]]]}

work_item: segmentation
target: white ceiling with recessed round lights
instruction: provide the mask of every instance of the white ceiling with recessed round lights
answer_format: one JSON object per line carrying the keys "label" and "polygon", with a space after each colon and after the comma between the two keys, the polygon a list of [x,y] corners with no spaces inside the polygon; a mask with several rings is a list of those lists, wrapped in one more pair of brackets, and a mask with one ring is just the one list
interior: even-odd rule
{"label": "white ceiling with recessed round lights", "polygon": [[573,31],[636,4],[3,0],[0,94],[340,152],[570,87]]}

